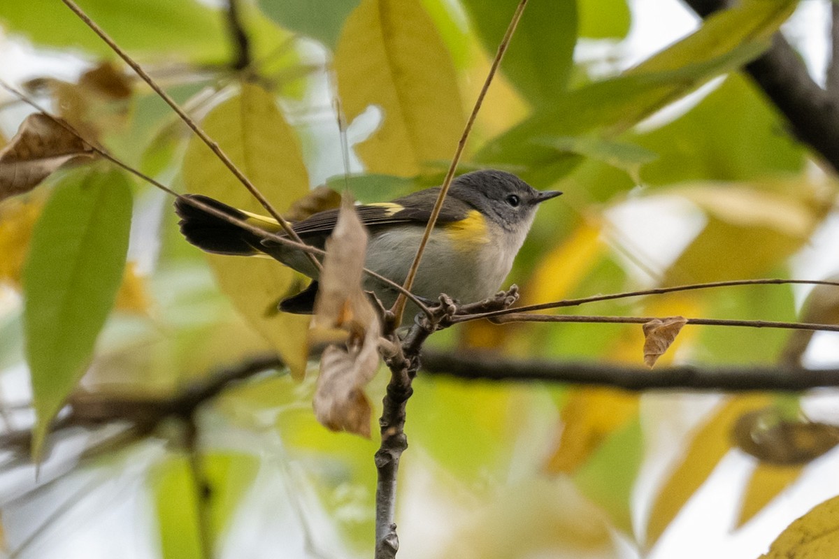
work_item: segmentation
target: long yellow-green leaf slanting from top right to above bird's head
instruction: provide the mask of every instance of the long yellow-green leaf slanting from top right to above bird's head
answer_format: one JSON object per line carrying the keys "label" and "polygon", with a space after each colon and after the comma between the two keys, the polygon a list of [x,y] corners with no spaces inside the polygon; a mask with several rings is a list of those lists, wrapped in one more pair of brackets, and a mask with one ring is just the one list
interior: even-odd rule
{"label": "long yellow-green leaf slanting from top right to above bird's head", "polygon": [[557,155],[534,138],[613,137],[668,105],[711,77],[758,56],[789,16],[795,2],[755,0],[708,18],[696,33],[655,54],[624,75],[570,91],[477,153],[482,163],[528,166],[525,179],[550,184],[580,163],[577,155]]}

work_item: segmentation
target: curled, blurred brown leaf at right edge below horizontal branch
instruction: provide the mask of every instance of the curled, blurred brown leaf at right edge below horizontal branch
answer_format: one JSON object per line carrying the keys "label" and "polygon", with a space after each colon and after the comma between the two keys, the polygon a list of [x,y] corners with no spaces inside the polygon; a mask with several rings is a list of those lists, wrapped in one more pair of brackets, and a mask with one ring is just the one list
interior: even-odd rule
{"label": "curled, blurred brown leaf at right edge below horizontal branch", "polygon": [[734,443],[762,462],[809,463],[839,444],[839,429],[804,418],[788,418],[774,407],[743,414],[732,431]]}

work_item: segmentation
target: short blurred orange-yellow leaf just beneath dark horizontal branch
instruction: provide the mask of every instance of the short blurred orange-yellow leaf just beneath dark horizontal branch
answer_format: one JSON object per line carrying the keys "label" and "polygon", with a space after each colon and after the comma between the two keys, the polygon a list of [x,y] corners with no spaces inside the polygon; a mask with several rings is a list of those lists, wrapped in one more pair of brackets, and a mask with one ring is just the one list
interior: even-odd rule
{"label": "short blurred orange-yellow leaf just beneath dark horizontal branch", "polygon": [[582,388],[562,408],[562,434],[545,466],[548,472],[572,474],[606,437],[638,415],[638,396],[624,391]]}

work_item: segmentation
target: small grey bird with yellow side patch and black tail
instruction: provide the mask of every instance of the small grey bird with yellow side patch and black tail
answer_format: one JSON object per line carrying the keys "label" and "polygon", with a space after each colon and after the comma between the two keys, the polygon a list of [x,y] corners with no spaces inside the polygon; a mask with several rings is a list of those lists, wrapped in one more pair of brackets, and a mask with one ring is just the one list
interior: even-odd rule
{"label": "small grey bird with yellow side patch and black tail", "polygon": [[[420,190],[392,202],[357,205],[367,226],[367,258],[364,266],[402,284],[425,224],[431,215],[440,187]],[[474,171],[454,179],[430,236],[412,292],[434,300],[446,293],[460,303],[474,303],[498,291],[513,267],[513,258],[533,224],[536,207],[559,196],[555,190],[539,191],[511,173]],[[250,225],[284,236],[279,224],[198,194],[188,197]],[[288,267],[313,278],[309,287],[284,299],[279,309],[289,313],[311,313],[317,292],[317,270],[299,249],[264,239],[178,199],[180,230],[195,246],[216,254],[257,256],[267,254]],[[300,239],[320,249],[335,227],[338,210],[326,210],[292,224]],[[364,288],[390,306],[398,292],[373,277]],[[408,315],[410,316],[410,315]]]}

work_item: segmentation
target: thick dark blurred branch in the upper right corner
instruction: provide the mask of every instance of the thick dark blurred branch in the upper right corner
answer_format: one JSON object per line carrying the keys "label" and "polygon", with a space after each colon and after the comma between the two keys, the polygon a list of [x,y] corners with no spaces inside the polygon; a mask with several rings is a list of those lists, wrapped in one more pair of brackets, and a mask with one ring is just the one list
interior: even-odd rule
{"label": "thick dark blurred branch in the upper right corner", "polygon": [[[725,8],[724,0],[684,0],[702,18]],[[834,13],[836,6],[834,5]],[[839,98],[821,89],[781,34],[746,71],[786,116],[792,132],[839,172]]]}

